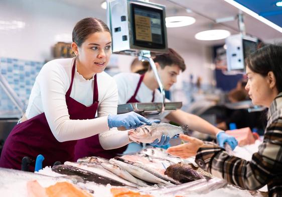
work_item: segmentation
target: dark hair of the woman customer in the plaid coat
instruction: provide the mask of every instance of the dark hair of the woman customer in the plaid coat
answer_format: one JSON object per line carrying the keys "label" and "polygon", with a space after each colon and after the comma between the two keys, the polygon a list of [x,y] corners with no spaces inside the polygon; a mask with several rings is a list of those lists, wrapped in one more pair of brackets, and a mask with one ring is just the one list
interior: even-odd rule
{"label": "dark hair of the woman customer in the plaid coat", "polygon": [[251,53],[245,60],[248,68],[262,76],[272,71],[278,92],[282,91],[282,45],[267,44]]}

